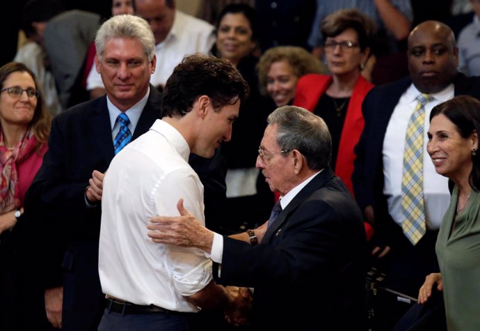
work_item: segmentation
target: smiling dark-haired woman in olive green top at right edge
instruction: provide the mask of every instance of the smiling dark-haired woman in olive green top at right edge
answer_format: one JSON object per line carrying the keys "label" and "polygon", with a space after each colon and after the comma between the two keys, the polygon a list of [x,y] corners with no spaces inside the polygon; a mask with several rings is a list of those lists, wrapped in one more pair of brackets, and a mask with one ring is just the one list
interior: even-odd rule
{"label": "smiling dark-haired woman in olive green top at right edge", "polygon": [[433,108],[427,151],[454,184],[435,246],[440,273],[426,277],[418,300],[443,291],[449,331],[480,330],[480,102],[458,96]]}

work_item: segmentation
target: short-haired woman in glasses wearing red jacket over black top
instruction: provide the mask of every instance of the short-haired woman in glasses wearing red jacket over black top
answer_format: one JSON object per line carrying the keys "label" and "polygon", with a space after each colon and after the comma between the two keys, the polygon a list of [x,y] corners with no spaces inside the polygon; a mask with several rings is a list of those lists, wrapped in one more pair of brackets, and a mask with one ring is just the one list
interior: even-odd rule
{"label": "short-haired woman in glasses wearing red jacket over black top", "polygon": [[323,118],[332,135],[331,167],[353,194],[353,148],[364,120],[362,101],[372,84],[361,71],[369,58],[374,22],[356,9],[328,15],[321,27],[331,75],[305,75],[298,81],[294,105]]}

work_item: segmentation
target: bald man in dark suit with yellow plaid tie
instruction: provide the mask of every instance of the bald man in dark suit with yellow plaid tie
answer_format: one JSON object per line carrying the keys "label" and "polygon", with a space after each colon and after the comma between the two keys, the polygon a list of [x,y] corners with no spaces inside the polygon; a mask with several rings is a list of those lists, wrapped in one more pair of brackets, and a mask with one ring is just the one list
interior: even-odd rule
{"label": "bald man in dark suit with yellow plaid tie", "polygon": [[[423,22],[408,37],[410,77],[376,86],[362,105],[365,128],[355,147],[355,198],[366,220],[374,224],[372,254],[380,258],[374,258],[374,263],[385,266],[387,286],[414,298],[425,276],[438,271],[435,241],[450,199],[447,178],[436,173],[426,154],[429,121],[425,118],[435,105],[454,95],[480,97],[479,77],[465,77],[457,66],[458,49],[451,29],[440,22]],[[418,137],[423,139],[417,155],[422,160],[412,169],[408,164],[417,160],[404,151],[412,146],[409,128],[417,111],[423,112],[416,120]],[[407,188],[408,174],[415,178],[410,187],[419,183],[413,194]],[[415,203],[408,206],[409,199]],[[420,211],[410,218],[414,209]],[[396,316],[382,330],[391,330],[393,320],[402,314],[401,310],[390,311]]]}

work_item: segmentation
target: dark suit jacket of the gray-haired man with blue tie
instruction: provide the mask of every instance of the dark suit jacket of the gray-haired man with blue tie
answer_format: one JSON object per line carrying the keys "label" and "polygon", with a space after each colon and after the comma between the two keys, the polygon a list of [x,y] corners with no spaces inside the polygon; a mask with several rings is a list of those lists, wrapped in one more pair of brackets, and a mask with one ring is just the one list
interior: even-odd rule
{"label": "dark suit jacket of the gray-haired man with blue tie", "polygon": [[[132,139],[160,117],[160,99],[150,86]],[[45,238],[38,256],[43,286],[61,286],[63,279],[64,330],[96,330],[102,315],[97,262],[102,210],[101,203],[86,206],[85,190],[93,170],[106,171],[113,156],[106,97],[74,106],[54,118],[49,151],[27,193],[25,213]]]}

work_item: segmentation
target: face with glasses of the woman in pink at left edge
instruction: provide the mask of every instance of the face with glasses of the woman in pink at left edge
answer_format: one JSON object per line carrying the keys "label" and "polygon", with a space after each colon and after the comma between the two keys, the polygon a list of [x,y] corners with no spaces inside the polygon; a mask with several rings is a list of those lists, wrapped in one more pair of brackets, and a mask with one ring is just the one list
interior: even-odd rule
{"label": "face with glasses of the woman in pink at left edge", "polygon": [[37,102],[38,91],[29,72],[12,72],[1,86],[1,126],[29,125]]}

